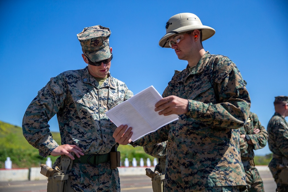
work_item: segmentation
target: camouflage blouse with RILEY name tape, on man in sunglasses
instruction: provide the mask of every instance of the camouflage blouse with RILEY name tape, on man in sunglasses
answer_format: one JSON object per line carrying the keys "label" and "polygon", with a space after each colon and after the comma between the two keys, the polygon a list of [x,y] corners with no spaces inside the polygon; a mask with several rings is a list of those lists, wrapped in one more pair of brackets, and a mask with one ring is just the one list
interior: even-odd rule
{"label": "camouflage blouse with RILEY name tape, on man in sunglasses", "polygon": [[[62,145],[75,144],[85,154],[109,153],[116,144],[112,136],[116,126],[105,112],[132,96],[133,93],[125,83],[111,77],[110,73],[99,86],[89,74],[87,66],[84,69],[63,72],[51,78],[28,106],[22,123],[23,134],[33,147],[39,149],[41,156],[47,157],[58,146],[48,124],[57,114]],[[54,163],[54,167],[56,165],[59,166],[58,161]],[[88,187],[88,191],[93,191],[98,184],[101,186],[101,182],[103,184],[107,179],[113,180],[115,176],[120,189],[118,169],[109,170],[113,177],[111,175],[103,178],[105,174],[102,172],[105,173],[107,169],[110,169],[108,163],[94,167],[79,164],[79,167],[71,170],[72,176],[74,175],[71,184],[78,186],[73,187],[76,191],[86,191],[85,187]],[[91,175],[101,175],[102,178],[100,176],[92,181]],[[99,186],[98,190],[101,189]],[[117,191],[117,187],[115,189]]]}

